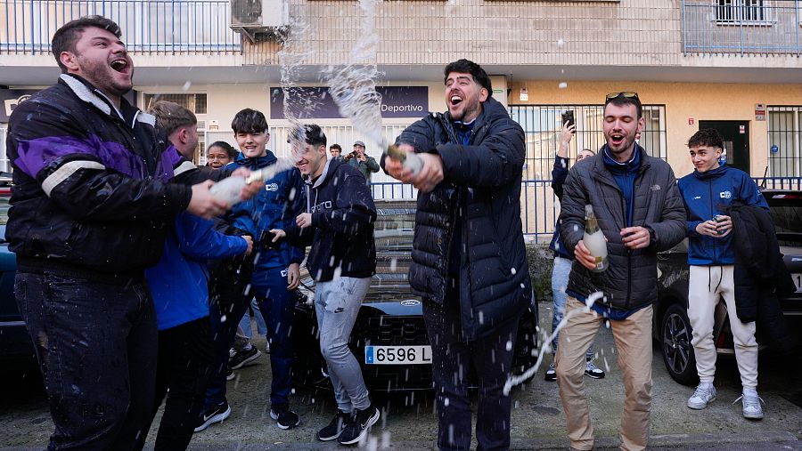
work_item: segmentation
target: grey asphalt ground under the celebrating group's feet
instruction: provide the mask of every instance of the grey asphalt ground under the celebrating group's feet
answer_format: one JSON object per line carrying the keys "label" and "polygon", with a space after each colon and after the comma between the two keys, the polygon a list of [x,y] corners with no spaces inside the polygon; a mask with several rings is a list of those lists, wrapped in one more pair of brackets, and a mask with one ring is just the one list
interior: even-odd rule
{"label": "grey asphalt ground under the celebrating group's feet", "polygon": [[[550,324],[551,310],[541,305],[541,325]],[[549,327],[550,328],[550,327]],[[264,349],[264,339],[257,339]],[[596,340],[597,365],[608,370],[605,379],[585,378],[598,448],[618,447],[618,423],[623,387],[612,335],[602,329]],[[547,365],[551,357],[545,358]],[[53,425],[41,380],[36,370],[0,374],[0,448],[40,449],[46,446]],[[802,450],[802,356],[779,358],[768,352],[760,358],[758,391],[765,400],[765,419],[749,421],[741,416],[741,403],[731,404],[741,391],[734,358],[719,358],[716,369],[717,399],[701,411],[685,407],[692,387],[668,377],[659,347],[654,347],[651,407],[652,449]],[[302,423],[282,431],[269,418],[267,391],[270,367],[266,356],[237,372],[229,383],[231,417],[222,424],[195,434],[191,449],[332,449],[336,444],[315,441],[315,432],[331,419],[335,405],[327,391],[295,391],[291,403]],[[541,369],[534,380],[513,391],[511,421],[515,449],[565,449],[564,415],[556,383],[543,380]],[[393,395],[372,393],[382,409],[369,449],[432,449],[437,432],[430,392]],[[158,424],[158,418],[155,422]],[[148,443],[152,445],[154,431]]]}

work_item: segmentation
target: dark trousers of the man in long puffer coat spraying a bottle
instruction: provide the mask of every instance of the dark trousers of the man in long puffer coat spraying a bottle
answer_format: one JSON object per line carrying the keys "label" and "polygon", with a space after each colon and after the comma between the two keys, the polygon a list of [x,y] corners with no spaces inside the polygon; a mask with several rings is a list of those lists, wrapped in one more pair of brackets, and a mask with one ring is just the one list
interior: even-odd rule
{"label": "dark trousers of the man in long puffer coat spraying a bottle", "polygon": [[448,290],[443,305],[423,302],[438,402],[438,447],[471,447],[471,399],[466,378],[472,366],[479,383],[477,449],[509,449],[511,403],[509,396],[503,396],[503,387],[510,375],[517,318],[498,326],[488,336],[467,341],[462,337],[460,300],[455,291]]}

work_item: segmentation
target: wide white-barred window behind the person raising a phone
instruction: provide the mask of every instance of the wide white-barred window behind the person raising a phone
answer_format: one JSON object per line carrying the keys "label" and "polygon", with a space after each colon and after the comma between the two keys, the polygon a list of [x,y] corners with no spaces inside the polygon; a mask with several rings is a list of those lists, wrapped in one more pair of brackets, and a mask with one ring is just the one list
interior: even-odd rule
{"label": "wide white-barred window behind the person raising a phone", "polygon": [[[524,129],[527,144],[527,159],[524,179],[548,181],[552,179],[554,155],[560,145],[562,131],[561,115],[566,110],[574,111],[577,134],[571,140],[569,158],[576,161],[582,149],[597,151],[604,145],[601,105],[517,105],[510,107],[511,117]],[[667,159],[666,107],[643,105],[645,126],[639,143],[652,157]]]}

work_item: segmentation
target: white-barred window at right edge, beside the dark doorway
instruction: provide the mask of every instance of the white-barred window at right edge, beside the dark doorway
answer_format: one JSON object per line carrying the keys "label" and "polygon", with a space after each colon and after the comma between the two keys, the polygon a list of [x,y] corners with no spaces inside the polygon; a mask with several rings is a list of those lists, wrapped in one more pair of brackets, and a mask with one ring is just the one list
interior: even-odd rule
{"label": "white-barred window at right edge, beside the dark doorway", "polygon": [[770,177],[802,176],[802,106],[769,106],[768,175]]}

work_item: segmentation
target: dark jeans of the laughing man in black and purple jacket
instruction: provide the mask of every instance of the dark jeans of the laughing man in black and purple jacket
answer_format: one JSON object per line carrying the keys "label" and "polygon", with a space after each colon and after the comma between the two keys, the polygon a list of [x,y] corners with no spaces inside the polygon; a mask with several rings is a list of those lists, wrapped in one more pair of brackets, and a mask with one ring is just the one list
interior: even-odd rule
{"label": "dark jeans of the laughing man in black and purple jacket", "polygon": [[14,292],[55,425],[48,449],[135,447],[148,432],[156,377],[156,315],[143,279],[18,272]]}

